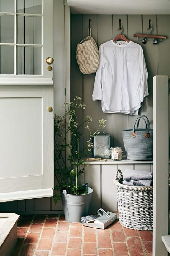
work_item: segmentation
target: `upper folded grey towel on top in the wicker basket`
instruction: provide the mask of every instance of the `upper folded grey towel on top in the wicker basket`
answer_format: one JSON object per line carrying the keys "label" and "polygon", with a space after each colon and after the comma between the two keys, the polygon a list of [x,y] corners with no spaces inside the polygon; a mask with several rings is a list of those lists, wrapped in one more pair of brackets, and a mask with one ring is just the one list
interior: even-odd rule
{"label": "upper folded grey towel on top in the wicker basket", "polygon": [[152,172],[125,170],[123,180],[152,180]]}

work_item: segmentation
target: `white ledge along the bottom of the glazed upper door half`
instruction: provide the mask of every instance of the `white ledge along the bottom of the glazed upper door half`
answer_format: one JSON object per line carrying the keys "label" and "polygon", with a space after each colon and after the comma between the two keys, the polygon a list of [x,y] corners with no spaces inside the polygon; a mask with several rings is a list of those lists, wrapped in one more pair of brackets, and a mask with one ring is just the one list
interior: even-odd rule
{"label": "white ledge along the bottom of the glazed upper door half", "polygon": [[0,77],[0,85],[53,85],[52,78],[4,78]]}

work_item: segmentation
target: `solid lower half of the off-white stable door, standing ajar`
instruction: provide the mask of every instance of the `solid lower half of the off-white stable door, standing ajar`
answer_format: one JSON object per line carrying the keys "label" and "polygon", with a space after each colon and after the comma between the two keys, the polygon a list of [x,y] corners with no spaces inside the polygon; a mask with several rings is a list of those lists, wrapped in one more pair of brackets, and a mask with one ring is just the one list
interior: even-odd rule
{"label": "solid lower half of the off-white stable door, standing ajar", "polygon": [[53,86],[0,86],[0,202],[53,195]]}

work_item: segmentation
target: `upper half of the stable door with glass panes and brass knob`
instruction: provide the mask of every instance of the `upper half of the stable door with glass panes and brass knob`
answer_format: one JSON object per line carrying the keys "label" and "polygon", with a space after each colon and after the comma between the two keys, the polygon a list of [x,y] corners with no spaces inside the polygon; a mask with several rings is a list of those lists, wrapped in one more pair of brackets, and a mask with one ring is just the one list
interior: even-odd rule
{"label": "upper half of the stable door with glass panes and brass knob", "polygon": [[[1,0],[0,78],[27,77],[28,83],[33,76],[32,84],[36,78],[52,80],[49,57],[53,57],[53,0]],[[13,84],[11,79],[0,79],[0,84],[7,81]]]}

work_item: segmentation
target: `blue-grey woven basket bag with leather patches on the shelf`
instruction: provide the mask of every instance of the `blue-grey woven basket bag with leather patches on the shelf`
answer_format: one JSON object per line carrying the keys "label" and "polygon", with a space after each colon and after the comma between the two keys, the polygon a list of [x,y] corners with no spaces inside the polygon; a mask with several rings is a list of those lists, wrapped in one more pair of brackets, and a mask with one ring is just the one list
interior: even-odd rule
{"label": "blue-grey woven basket bag with leather patches on the shelf", "polygon": [[[138,128],[141,119],[144,120],[144,129]],[[127,159],[137,161],[153,160],[153,129],[150,127],[147,116],[138,117],[133,129],[122,131],[122,137]]]}

